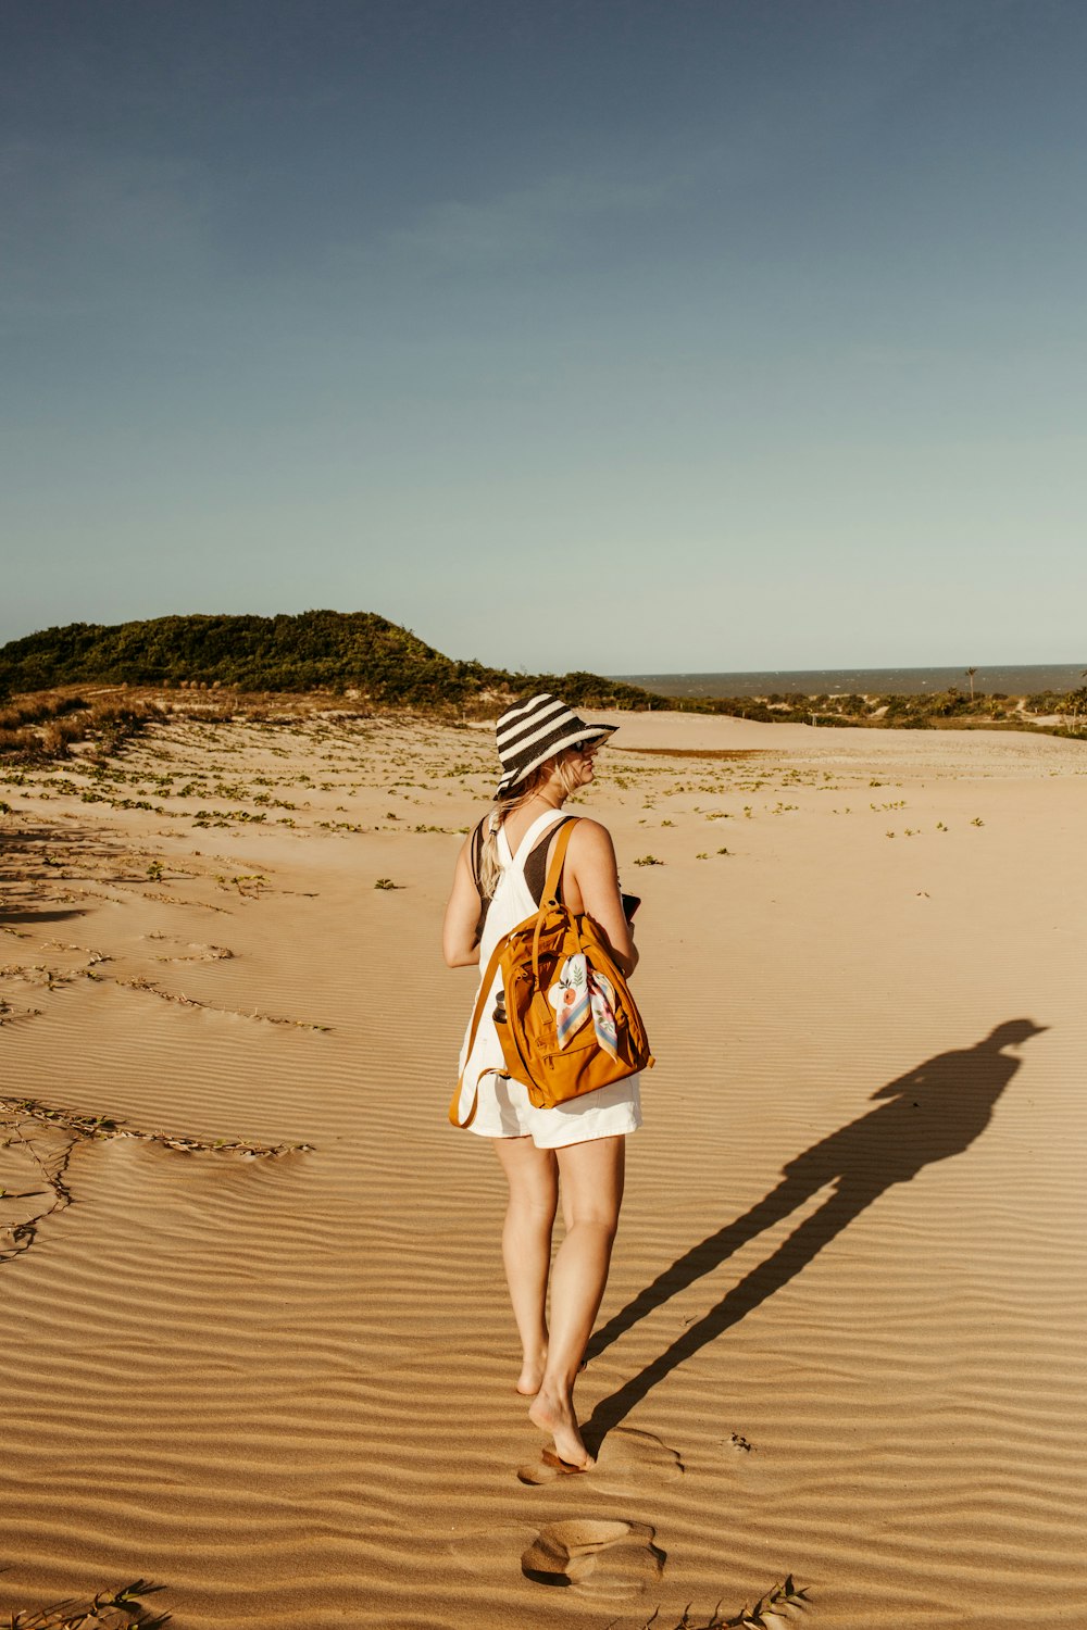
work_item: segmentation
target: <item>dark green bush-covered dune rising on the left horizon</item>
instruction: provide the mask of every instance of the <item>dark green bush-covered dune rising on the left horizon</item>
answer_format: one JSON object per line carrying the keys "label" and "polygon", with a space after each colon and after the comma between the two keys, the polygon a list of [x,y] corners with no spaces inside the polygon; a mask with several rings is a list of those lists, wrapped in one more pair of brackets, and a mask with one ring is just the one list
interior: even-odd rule
{"label": "dark green bush-covered dune rising on the left horizon", "polygon": [[244,691],[359,689],[380,703],[469,703],[484,691],[557,689],[574,706],[667,707],[634,685],[595,673],[507,673],[455,662],[373,611],[300,616],[161,616],[68,623],[0,649],[0,693],[59,685],[218,685]]}

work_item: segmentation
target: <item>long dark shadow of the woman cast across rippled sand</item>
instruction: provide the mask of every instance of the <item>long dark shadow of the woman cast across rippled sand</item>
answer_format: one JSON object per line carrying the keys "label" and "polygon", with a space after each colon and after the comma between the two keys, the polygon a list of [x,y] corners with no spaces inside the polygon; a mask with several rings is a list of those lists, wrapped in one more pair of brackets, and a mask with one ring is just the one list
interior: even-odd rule
{"label": "long dark shadow of the woman cast across rippled sand", "polygon": [[639,1291],[634,1301],[613,1314],[588,1343],[587,1358],[600,1356],[639,1319],[712,1273],[764,1229],[774,1227],[828,1183],[834,1183],[818,1211],[805,1218],[766,1262],[733,1284],[715,1307],[684,1330],[652,1364],[618,1392],[601,1399],[582,1428],[590,1449],[595,1452],[611,1428],[678,1364],[740,1324],[794,1280],[893,1183],[908,1183],[934,1161],[948,1161],[968,1149],[989,1125],[996,1100],[1020,1068],[1020,1060],[1009,1056],[1004,1048],[1020,1046],[1045,1029],[1030,1019],[1010,1019],[976,1046],[940,1053],[878,1087],[872,1097],[887,1102],[799,1154],[782,1167],[782,1180],[769,1195],[742,1218],[693,1245]]}

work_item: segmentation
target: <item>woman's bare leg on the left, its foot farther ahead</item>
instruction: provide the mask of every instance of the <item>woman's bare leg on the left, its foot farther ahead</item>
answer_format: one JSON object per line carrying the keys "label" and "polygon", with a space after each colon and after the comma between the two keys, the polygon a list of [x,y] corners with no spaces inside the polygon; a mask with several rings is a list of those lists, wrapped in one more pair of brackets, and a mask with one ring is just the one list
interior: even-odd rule
{"label": "woman's bare leg on the left, its foot farther ahead", "polygon": [[531,1138],[495,1138],[495,1151],[510,1185],[502,1260],[523,1348],[517,1390],[533,1397],[548,1358],[548,1271],[559,1169],[554,1151],[538,1149]]}

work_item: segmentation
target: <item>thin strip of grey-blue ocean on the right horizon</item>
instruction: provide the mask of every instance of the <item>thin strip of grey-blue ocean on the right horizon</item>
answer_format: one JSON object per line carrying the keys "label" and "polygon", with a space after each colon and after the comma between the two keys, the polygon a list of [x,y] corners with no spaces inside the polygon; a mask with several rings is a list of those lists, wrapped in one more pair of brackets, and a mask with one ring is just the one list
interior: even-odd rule
{"label": "thin strip of grey-blue ocean on the right horizon", "polygon": [[[1084,662],[978,665],[975,693],[1036,696],[1084,683]],[[957,686],[970,691],[965,668],[764,668],[750,673],[613,673],[662,696],[924,696]]]}

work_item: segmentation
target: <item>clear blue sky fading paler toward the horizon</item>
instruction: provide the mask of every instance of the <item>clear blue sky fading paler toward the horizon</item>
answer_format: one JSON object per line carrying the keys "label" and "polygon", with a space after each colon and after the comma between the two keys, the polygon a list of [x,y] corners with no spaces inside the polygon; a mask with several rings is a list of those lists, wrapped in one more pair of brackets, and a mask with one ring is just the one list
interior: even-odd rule
{"label": "clear blue sky fading paler toward the horizon", "polygon": [[5,0],[0,641],[1087,660],[1082,0]]}

